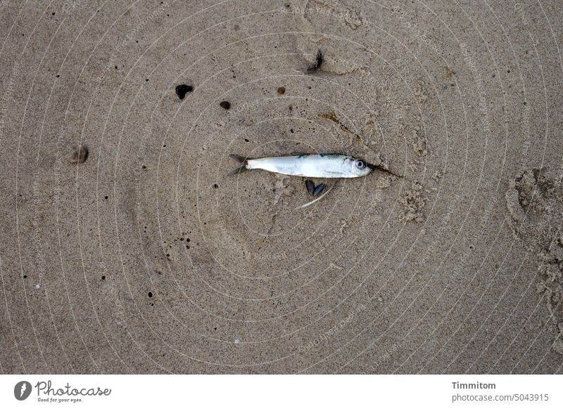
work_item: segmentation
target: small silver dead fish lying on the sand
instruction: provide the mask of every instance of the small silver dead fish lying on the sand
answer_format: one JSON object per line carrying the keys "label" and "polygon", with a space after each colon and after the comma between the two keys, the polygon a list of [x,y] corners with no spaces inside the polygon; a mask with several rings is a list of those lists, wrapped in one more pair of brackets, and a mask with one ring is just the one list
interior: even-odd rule
{"label": "small silver dead fish lying on the sand", "polygon": [[339,154],[294,155],[247,159],[231,155],[242,166],[233,174],[251,169],[262,169],[277,174],[307,178],[358,178],[374,170],[374,166],[358,158]]}

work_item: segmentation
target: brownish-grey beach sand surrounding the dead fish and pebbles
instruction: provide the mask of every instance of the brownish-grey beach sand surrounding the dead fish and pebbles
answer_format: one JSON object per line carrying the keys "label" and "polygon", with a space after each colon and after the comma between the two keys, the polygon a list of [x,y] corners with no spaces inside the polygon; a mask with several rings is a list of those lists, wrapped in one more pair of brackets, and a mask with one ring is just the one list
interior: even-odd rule
{"label": "brownish-grey beach sand surrounding the dead fish and pebbles", "polygon": [[[562,38],[557,0],[2,1],[1,372],[562,373]],[[294,152],[404,177],[228,176]]]}

